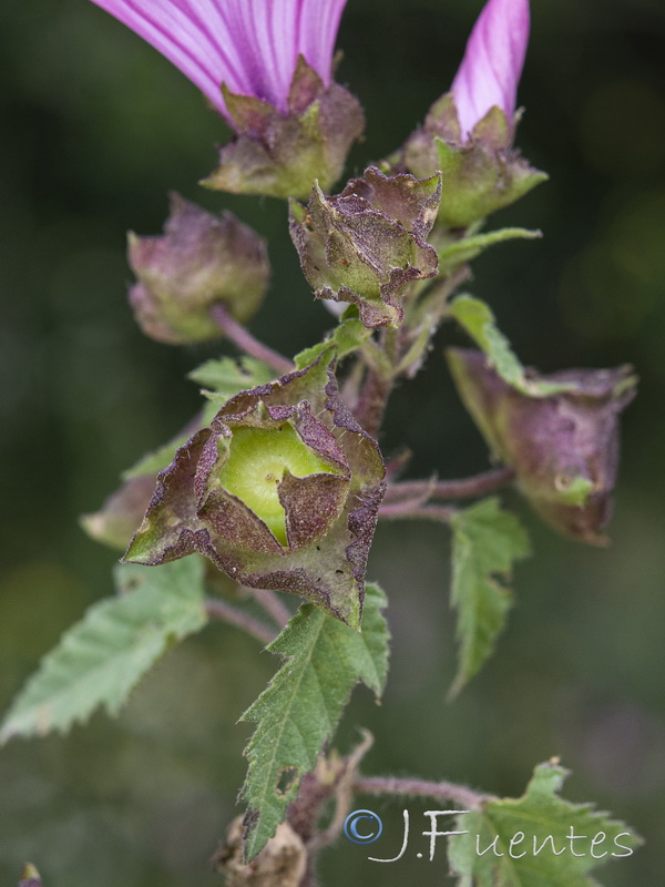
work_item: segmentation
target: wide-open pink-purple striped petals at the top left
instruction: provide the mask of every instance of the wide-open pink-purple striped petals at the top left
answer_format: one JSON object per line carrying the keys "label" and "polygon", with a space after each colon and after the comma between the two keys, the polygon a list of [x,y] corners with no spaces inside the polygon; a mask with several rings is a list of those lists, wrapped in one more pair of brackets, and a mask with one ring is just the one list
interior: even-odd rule
{"label": "wide-open pink-purple striped petals at the top left", "polygon": [[165,55],[228,116],[221,86],[278,111],[298,57],[330,84],[346,0],[92,0]]}

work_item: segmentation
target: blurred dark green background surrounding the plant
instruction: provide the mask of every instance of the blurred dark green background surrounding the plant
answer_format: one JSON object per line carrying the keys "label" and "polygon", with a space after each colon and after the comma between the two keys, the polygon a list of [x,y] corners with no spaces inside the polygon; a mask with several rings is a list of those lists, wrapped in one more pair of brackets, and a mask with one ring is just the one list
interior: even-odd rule
{"label": "blurred dark green background surrounding the plant", "polygon": [[[400,144],[447,89],[480,7],[349,0],[339,77],[368,116],[354,171]],[[525,363],[636,365],[613,544],[555,538],[514,500],[535,555],[518,570],[497,654],[447,704],[449,539],[429,526],[381,528],[369,575],[390,597],[391,677],[381,707],[355,694],[339,745],[348,750],[365,725],[377,740],[368,773],[507,795],[560,755],[573,771],[569,797],[597,802],[647,839],[600,880],[656,885],[665,852],[665,12],[661,0],[532,8],[519,143],[551,182],[492,225],[541,227],[545,237],[483,256],[472,290]],[[253,330],[293,353],[330,322],[299,276],[284,205],[197,186],[225,132],[157,53],[85,0],[3,0],[0,59],[4,708],[59,634],[111,592],[115,555],[81,532],[78,516],[197,408],[183,376],[211,349],[142,338],[125,299],[125,231],[158,232],[172,188],[229,207],[270,243],[272,298]],[[382,443],[388,453],[408,443],[412,476],[487,467],[440,356],[452,339],[450,330],[438,339],[427,373],[392,402]],[[0,751],[1,883],[16,884],[32,859],[47,887],[218,884],[207,859],[237,812],[249,733],[235,722],[275,666],[253,641],[212,626],[166,656],[117,721],[96,715],[66,738]],[[364,805],[386,823],[371,850],[393,855],[403,803]],[[416,822],[422,805],[410,808]],[[326,886],[450,883],[442,855],[378,866],[368,853],[341,839],[321,860]]]}

